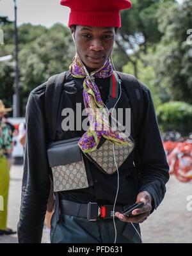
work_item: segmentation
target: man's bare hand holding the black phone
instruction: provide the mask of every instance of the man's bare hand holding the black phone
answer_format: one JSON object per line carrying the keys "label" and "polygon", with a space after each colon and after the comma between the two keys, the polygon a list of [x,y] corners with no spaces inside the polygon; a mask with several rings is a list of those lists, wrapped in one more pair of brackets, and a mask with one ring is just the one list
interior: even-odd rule
{"label": "man's bare hand holding the black phone", "polygon": [[138,194],[136,202],[143,202],[144,205],[140,209],[132,211],[132,214],[135,215],[135,217],[129,218],[120,212],[115,212],[115,216],[121,221],[143,223],[143,221],[147,220],[150,215],[150,211],[152,210],[152,196],[147,191],[143,191]]}

